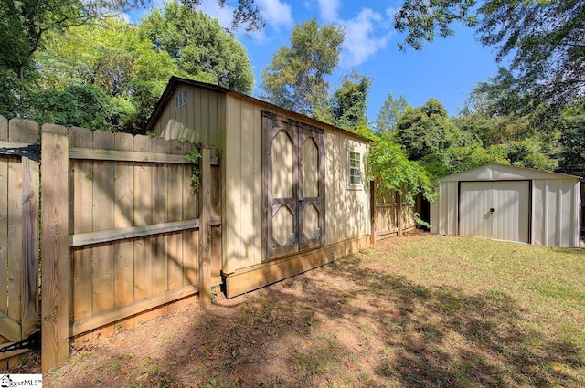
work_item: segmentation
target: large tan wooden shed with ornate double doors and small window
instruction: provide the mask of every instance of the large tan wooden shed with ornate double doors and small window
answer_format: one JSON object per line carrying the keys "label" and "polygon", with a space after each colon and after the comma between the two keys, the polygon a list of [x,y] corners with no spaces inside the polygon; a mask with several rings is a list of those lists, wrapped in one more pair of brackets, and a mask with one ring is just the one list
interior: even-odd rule
{"label": "large tan wooden shed with ornate double doors and small window", "polygon": [[228,297],[369,246],[366,138],[239,92],[172,78],[146,131],[220,152]]}

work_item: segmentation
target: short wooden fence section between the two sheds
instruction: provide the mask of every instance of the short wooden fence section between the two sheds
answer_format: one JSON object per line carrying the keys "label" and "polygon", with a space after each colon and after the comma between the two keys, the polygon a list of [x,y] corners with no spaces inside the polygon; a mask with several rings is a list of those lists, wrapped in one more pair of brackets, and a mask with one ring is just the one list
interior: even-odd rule
{"label": "short wooden fence section between the two sheds", "polygon": [[[377,183],[370,185],[372,205],[371,228],[375,240],[400,236],[403,232],[417,227],[414,219],[415,206],[400,200],[398,192],[381,190]],[[372,238],[372,243],[375,242]]]}

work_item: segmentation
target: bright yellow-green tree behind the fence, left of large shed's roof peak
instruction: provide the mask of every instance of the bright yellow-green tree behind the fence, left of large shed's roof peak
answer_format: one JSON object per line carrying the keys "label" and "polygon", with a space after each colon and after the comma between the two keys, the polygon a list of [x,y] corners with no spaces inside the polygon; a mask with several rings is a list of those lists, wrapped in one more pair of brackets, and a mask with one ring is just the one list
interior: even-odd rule
{"label": "bright yellow-green tree behind the fence, left of large shed's roof peak", "polygon": [[[96,116],[105,114],[108,123],[101,124],[101,129],[131,133],[142,131],[167,80],[180,74],[168,54],[154,50],[136,26],[116,18],[96,25],[72,26],[63,32],[48,32],[45,49],[37,53],[35,66],[39,77],[36,90],[27,100],[27,117],[44,122],[51,122],[50,117],[58,120],[63,116],[52,116],[47,110],[57,106],[49,105],[44,110],[35,106],[42,96],[47,94],[48,100],[55,100],[61,93],[67,100],[69,93],[64,90],[70,86],[91,86],[101,90],[108,103],[82,109],[95,112]],[[104,107],[107,112],[98,112]],[[69,117],[67,122],[73,122],[73,117],[79,116]],[[71,125],[87,125],[84,122],[87,121]]]}

